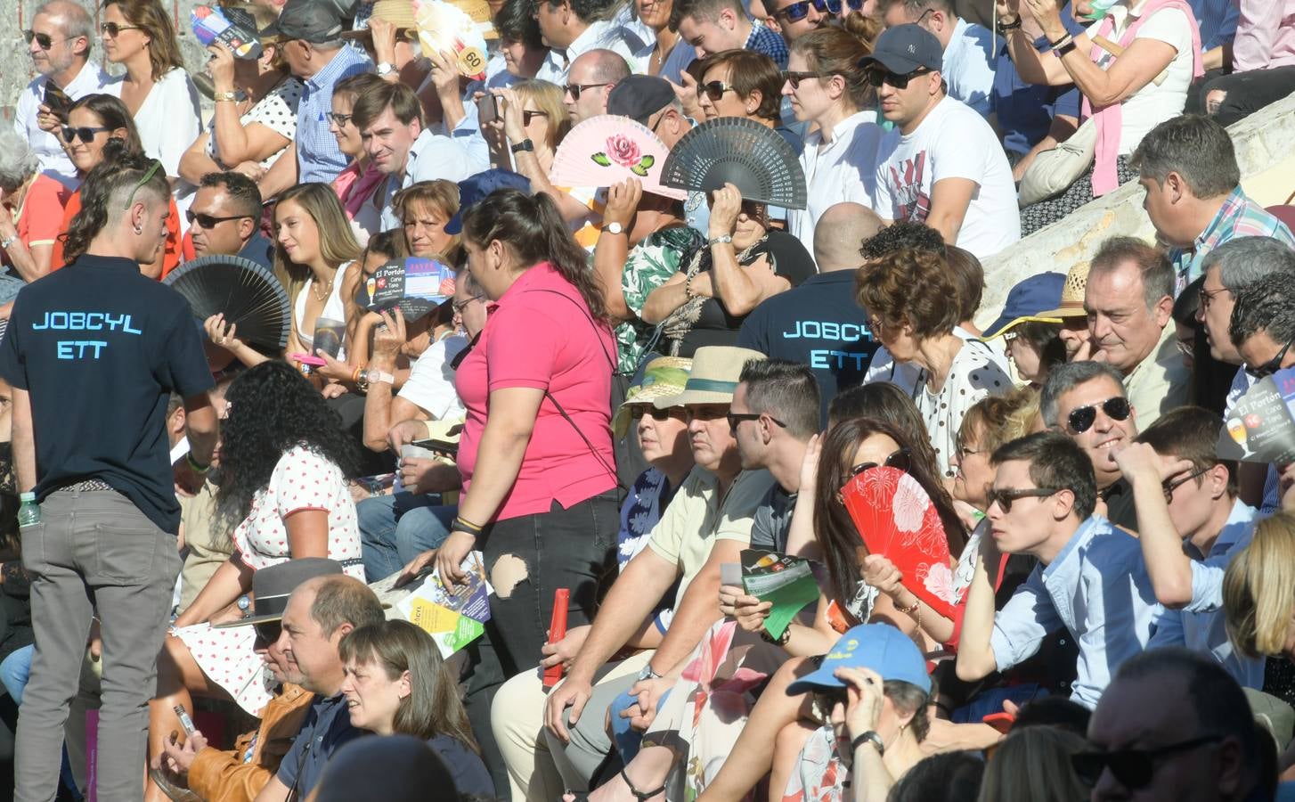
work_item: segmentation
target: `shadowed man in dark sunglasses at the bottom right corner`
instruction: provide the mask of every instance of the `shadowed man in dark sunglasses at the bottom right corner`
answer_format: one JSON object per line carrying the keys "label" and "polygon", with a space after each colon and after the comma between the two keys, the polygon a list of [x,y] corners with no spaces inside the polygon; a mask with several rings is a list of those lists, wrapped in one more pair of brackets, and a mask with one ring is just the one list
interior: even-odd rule
{"label": "shadowed man in dark sunglasses at the bottom right corner", "polygon": [[1155,649],[1120,666],[1071,757],[1094,802],[1269,799],[1263,744],[1246,694],[1216,662]]}

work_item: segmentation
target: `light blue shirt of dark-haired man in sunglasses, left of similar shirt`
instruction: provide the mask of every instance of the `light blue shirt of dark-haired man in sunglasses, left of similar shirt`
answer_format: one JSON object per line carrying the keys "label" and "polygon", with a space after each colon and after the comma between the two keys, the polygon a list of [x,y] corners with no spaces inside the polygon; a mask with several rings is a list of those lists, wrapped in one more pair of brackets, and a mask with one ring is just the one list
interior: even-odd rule
{"label": "light blue shirt of dark-haired man in sunglasses, left of similar shirt", "polygon": [[1079,644],[1071,698],[1093,709],[1120,663],[1146,649],[1163,612],[1137,539],[1093,516],[995,615],[989,645],[998,671],[1006,671],[1066,627]]}

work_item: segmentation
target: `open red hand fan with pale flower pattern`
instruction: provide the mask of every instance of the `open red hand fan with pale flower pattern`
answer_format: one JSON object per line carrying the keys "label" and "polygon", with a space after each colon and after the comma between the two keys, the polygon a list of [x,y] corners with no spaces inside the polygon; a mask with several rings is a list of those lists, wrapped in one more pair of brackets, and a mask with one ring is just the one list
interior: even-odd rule
{"label": "open red hand fan with pale flower pattern", "polygon": [[904,575],[904,587],[931,609],[953,615],[953,569],[940,514],[922,486],[897,468],[869,468],[840,488],[869,553]]}

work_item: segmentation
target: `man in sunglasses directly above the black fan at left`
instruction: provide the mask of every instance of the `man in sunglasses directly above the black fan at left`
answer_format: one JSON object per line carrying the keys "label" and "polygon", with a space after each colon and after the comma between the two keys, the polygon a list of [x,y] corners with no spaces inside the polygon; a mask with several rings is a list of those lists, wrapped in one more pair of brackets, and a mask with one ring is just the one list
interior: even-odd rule
{"label": "man in sunglasses directly above the black fan at left", "polygon": [[193,253],[242,257],[273,269],[273,245],[260,233],[260,190],[241,172],[208,172],[185,215]]}

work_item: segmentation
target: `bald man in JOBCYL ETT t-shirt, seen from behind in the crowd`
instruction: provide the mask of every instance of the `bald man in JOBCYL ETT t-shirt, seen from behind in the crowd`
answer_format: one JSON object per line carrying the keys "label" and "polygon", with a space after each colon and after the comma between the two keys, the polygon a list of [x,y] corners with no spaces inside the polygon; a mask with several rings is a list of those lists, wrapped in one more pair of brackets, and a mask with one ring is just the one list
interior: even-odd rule
{"label": "bald man in JOBCYL ETT t-shirt, seen from behind in the crowd", "polygon": [[818,275],[773,295],[742,323],[738,345],[773,359],[809,365],[822,396],[822,424],[838,390],[864,381],[877,350],[868,315],[855,303],[859,246],[882,228],[866,206],[837,203],[815,227],[813,255]]}

